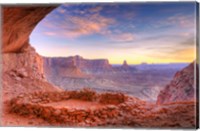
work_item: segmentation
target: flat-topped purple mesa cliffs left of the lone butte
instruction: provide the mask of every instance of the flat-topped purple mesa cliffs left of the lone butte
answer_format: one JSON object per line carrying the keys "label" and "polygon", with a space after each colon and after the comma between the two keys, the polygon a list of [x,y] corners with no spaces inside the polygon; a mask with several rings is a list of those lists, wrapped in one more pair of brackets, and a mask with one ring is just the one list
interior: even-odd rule
{"label": "flat-topped purple mesa cliffs left of the lone butte", "polygon": [[[52,72],[56,72],[57,74],[64,74],[66,70],[70,69],[76,69],[76,71],[80,73],[112,70],[112,66],[106,59],[88,60],[82,58],[81,56],[65,58],[44,58],[44,68],[47,74],[52,74]],[[65,74],[67,75],[67,73]]]}

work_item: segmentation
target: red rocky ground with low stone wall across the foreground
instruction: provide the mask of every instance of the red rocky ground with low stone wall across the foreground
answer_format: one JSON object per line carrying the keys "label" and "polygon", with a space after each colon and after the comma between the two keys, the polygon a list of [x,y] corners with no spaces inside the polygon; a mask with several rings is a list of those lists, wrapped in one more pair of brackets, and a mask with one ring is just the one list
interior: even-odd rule
{"label": "red rocky ground with low stone wall across the foreground", "polygon": [[131,98],[121,104],[98,104],[69,99],[60,100],[59,105],[55,106],[54,102],[47,104],[44,104],[45,102],[42,104],[42,101],[37,102],[41,99],[32,101],[26,101],[26,98],[22,101],[19,99],[23,99],[23,96],[4,103],[4,126],[195,127],[193,102],[155,106]]}

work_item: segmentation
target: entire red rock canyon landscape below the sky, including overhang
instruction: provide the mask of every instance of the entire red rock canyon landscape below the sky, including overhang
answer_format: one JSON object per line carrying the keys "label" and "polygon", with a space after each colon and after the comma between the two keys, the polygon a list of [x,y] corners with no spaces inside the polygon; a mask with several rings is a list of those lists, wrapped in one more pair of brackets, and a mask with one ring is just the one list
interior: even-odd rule
{"label": "entire red rock canyon landscape below the sky, including overhang", "polygon": [[29,35],[54,8],[3,8],[1,125],[198,126],[196,62],[158,69],[126,61],[113,66],[106,59],[81,56],[42,57],[30,46]]}

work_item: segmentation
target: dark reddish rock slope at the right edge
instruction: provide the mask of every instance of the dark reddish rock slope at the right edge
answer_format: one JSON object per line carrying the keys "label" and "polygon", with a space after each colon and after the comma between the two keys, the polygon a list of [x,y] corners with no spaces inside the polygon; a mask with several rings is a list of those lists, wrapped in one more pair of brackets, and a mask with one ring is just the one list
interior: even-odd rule
{"label": "dark reddish rock slope at the right edge", "polygon": [[195,100],[194,66],[195,64],[191,63],[175,74],[170,84],[158,95],[157,104]]}

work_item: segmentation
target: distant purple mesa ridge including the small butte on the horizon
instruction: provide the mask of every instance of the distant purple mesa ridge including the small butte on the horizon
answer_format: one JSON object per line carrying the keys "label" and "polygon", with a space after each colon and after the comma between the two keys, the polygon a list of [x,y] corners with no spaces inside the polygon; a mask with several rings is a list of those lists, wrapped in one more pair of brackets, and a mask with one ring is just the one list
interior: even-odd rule
{"label": "distant purple mesa ridge including the small butte on the horizon", "polygon": [[44,57],[44,67],[46,68],[71,68],[77,67],[84,73],[102,73],[102,72],[120,72],[133,71],[134,67],[122,65],[119,67],[112,66],[108,59],[85,59],[79,55],[70,57]]}

